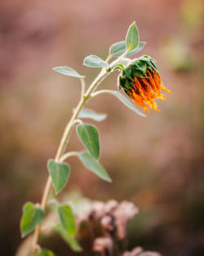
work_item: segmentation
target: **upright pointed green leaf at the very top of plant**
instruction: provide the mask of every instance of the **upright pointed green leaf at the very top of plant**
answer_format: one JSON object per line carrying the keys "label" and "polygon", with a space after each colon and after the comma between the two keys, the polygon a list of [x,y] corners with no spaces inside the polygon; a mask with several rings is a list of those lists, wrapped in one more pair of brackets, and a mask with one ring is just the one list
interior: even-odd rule
{"label": "upright pointed green leaf at the very top of plant", "polygon": [[135,21],[130,25],[126,33],[126,51],[131,52],[134,50],[139,43],[139,34]]}

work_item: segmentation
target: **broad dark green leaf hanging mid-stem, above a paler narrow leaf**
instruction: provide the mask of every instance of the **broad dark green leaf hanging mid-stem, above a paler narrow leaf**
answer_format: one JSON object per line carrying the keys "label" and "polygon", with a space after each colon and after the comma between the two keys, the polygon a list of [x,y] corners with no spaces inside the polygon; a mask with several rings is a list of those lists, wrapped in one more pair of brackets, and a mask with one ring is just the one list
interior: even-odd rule
{"label": "broad dark green leaf hanging mid-stem, above a paler narrow leaf", "polygon": [[86,149],[95,159],[98,159],[100,156],[100,140],[97,128],[91,124],[78,124],[77,132]]}

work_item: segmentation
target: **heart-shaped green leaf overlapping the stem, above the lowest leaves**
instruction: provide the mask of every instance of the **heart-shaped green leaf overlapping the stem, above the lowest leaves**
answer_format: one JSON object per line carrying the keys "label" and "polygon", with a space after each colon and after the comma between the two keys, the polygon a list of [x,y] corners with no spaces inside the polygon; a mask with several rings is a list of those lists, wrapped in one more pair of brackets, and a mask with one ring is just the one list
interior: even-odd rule
{"label": "heart-shaped green leaf overlapping the stem, above the lowest leaves", "polygon": [[47,168],[51,174],[55,193],[58,194],[66,185],[69,177],[69,164],[55,162],[54,159],[49,159]]}

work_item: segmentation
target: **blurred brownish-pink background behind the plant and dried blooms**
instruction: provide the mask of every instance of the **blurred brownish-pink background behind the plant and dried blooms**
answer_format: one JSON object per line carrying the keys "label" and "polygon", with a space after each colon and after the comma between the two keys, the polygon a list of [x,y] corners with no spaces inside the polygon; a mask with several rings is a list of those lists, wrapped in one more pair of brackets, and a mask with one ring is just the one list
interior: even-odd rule
{"label": "blurred brownish-pink background behind the plant and dried blooms", "polygon": [[[109,95],[88,103],[109,115],[97,126],[100,162],[113,184],[72,158],[66,191],[80,189],[92,200],[134,202],[140,213],[131,222],[130,248],[204,255],[202,0],[10,0],[0,2],[0,20],[1,254],[15,254],[22,205],[40,200],[47,159],[54,157],[80,96],[78,79],[51,68],[73,67],[86,74],[88,84],[99,70],[83,66],[83,59],[105,58],[135,20],[140,40],[147,42],[140,55],[157,60],[173,96],[157,101],[162,112],[147,118]],[[117,76],[100,88],[117,89]],[[72,135],[68,150],[81,150]]]}

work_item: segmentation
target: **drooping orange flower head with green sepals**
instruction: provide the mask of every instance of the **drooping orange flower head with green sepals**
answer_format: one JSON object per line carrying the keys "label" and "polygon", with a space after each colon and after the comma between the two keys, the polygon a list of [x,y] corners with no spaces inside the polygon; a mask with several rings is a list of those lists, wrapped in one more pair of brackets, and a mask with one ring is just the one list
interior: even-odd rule
{"label": "drooping orange flower head with green sepals", "polygon": [[123,89],[128,97],[145,110],[160,111],[155,99],[166,101],[161,90],[171,93],[163,84],[157,66],[150,56],[142,56],[131,61],[119,76],[119,89]]}

